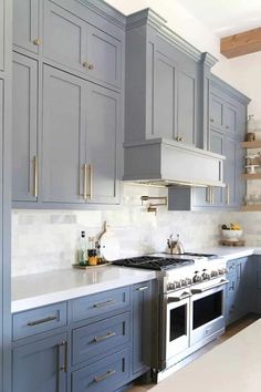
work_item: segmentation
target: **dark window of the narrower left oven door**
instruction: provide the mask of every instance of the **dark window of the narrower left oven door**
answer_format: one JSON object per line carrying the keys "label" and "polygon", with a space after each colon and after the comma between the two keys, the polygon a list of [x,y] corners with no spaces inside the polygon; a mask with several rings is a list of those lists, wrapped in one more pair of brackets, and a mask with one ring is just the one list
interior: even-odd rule
{"label": "dark window of the narrower left oven door", "polygon": [[187,334],[187,305],[170,310],[169,341]]}

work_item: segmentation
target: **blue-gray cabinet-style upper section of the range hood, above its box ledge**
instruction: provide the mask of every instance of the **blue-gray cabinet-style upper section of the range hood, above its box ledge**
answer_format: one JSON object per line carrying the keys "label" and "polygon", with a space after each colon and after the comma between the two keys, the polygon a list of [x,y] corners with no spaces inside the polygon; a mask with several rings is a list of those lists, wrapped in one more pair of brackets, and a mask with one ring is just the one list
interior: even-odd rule
{"label": "blue-gray cabinet-style upper section of the range hood, above its box ledge", "polygon": [[175,41],[152,10],[127,25],[125,142],[164,137],[202,147],[201,53]]}

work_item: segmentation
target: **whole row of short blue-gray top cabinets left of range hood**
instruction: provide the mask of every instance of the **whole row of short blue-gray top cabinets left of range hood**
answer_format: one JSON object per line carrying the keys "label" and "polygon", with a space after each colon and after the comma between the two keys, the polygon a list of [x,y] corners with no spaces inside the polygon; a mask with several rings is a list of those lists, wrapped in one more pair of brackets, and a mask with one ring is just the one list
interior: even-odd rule
{"label": "whole row of short blue-gray top cabinets left of range hood", "polygon": [[44,61],[80,72],[85,79],[121,89],[124,25],[111,22],[109,17],[103,20],[76,2],[64,7],[61,0],[13,0],[14,48],[41,54]]}

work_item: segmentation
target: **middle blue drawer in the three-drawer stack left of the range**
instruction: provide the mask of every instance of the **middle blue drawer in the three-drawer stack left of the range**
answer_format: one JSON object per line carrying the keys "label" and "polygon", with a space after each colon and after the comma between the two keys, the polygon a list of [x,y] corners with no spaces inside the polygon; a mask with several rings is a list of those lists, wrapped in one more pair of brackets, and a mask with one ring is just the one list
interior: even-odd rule
{"label": "middle blue drawer in the three-drawer stack left of the range", "polygon": [[128,343],[129,312],[77,328],[73,331],[73,364],[109,353],[109,350]]}

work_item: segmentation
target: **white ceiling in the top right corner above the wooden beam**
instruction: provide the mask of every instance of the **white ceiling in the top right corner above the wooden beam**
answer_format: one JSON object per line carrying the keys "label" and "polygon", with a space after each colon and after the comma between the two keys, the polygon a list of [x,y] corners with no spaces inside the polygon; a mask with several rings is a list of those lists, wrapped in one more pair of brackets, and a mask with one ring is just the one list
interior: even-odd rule
{"label": "white ceiling in the top right corner above the wooden beam", "polygon": [[178,0],[219,37],[261,27],[261,0]]}

